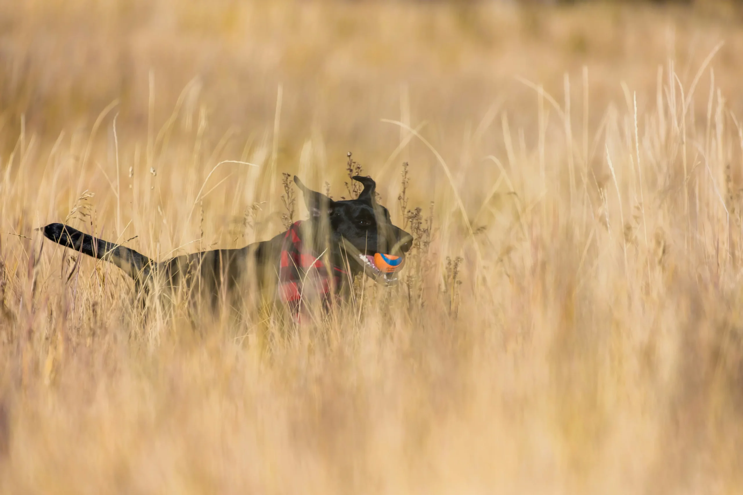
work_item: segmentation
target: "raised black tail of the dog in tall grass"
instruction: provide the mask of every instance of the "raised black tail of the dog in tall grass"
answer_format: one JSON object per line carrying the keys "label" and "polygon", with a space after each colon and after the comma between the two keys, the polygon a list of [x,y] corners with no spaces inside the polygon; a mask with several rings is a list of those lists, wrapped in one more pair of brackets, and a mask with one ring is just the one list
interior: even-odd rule
{"label": "raised black tail of the dog in tall grass", "polygon": [[65,224],[48,224],[42,228],[44,236],[79,253],[113,263],[134,280],[145,279],[155,262],[129,247],[88,236]]}

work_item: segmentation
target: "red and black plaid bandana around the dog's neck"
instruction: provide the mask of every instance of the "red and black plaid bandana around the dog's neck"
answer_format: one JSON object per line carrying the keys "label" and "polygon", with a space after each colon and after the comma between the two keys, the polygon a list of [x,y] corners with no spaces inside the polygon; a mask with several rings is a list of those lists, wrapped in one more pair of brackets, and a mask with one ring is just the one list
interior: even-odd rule
{"label": "red and black plaid bandana around the dog's neck", "polygon": [[321,299],[326,304],[330,295],[340,287],[341,276],[345,271],[337,267],[328,268],[322,259],[302,245],[300,226],[302,221],[294,222],[284,236],[279,262],[279,297],[291,308],[299,319],[302,300]]}

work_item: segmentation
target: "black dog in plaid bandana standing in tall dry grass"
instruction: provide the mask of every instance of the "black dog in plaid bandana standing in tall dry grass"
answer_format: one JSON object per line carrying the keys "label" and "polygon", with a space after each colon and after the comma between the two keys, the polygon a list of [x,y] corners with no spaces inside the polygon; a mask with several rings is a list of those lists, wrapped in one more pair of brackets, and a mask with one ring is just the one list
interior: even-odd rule
{"label": "black dog in plaid bandana standing in tall dry grass", "polygon": [[333,201],[294,176],[310,212],[308,221],[296,222],[273,239],[240,249],[186,254],[164,262],[65,224],[48,224],[42,230],[53,242],[114,263],[134,279],[140,295],[153,288],[164,289],[166,294],[186,289],[190,297],[207,298],[215,304],[223,291],[234,294],[257,288],[296,303],[302,297],[302,283],[313,270],[322,272],[319,283],[325,293],[331,289],[343,294],[361,271],[383,283],[396,281],[394,273],[383,273],[374,265],[373,256],[384,253],[403,258],[413,238],[393,225],[389,211],[377,204],[376,184],[371,178],[357,175],[354,180],[364,185],[359,197]]}

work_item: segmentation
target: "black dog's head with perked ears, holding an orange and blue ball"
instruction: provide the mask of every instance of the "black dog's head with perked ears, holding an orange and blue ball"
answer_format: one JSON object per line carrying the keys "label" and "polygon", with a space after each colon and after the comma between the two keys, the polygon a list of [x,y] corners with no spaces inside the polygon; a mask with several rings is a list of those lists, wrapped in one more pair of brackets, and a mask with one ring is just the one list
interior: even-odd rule
{"label": "black dog's head with perked ears, holding an orange and blue ball", "polygon": [[[413,237],[393,225],[389,211],[377,203],[374,195],[377,184],[371,178],[355,175],[353,179],[364,185],[359,197],[333,201],[328,196],[305,187],[294,176],[294,182],[305,195],[305,204],[311,221],[316,226],[315,231],[322,233],[316,239],[325,239],[322,242],[329,244],[334,262],[340,265],[345,264],[342,260],[354,259],[357,264],[351,262],[351,270],[363,270],[374,279],[394,283],[397,280],[395,273],[386,273],[377,268],[374,255],[379,253],[384,259],[392,260],[393,265],[399,265],[412,247]],[[327,228],[323,228],[325,226]],[[319,249],[324,247],[319,246]]]}

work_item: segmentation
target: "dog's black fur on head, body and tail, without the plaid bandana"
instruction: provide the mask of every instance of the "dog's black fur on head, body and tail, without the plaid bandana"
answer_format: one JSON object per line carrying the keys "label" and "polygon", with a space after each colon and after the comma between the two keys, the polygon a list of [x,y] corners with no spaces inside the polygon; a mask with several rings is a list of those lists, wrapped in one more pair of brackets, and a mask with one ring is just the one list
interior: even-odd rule
{"label": "dog's black fur on head, body and tail, without the plaid bandana", "polygon": [[[348,250],[403,256],[412,245],[412,236],[393,225],[389,211],[377,204],[374,181],[358,175],[354,180],[364,184],[359,198],[333,201],[308,189],[294,176],[310,212],[310,219],[302,224],[302,239],[313,244],[315,253],[324,253],[332,265],[350,268],[346,283],[366,269]],[[145,292],[152,290],[153,285],[171,291],[186,288],[189,293],[207,297],[212,302],[217,301],[223,291],[274,288],[284,241],[284,233],[280,233],[273,239],[240,249],[203,251],[155,262],[129,247],[96,239],[65,224],[48,224],[42,230],[47,239],[59,245],[114,263]],[[366,272],[369,273],[368,269]]]}

